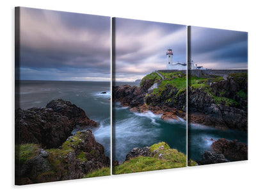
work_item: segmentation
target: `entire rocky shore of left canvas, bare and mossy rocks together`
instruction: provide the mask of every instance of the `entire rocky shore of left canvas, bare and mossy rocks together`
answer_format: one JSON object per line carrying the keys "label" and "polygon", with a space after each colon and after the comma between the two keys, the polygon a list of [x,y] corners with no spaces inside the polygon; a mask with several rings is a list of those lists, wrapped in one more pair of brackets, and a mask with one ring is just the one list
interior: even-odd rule
{"label": "entire rocky shore of left canvas, bare and mossy rocks together", "polygon": [[[52,100],[46,108],[17,109],[15,183],[79,179],[107,168],[104,147],[89,129],[96,126],[83,109],[62,99]],[[77,127],[88,130],[72,135]]]}

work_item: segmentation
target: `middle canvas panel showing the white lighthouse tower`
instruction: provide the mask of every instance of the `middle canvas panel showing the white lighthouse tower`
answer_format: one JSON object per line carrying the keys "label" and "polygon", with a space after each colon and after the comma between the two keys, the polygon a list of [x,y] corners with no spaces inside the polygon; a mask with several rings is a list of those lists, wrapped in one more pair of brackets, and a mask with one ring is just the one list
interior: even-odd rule
{"label": "middle canvas panel showing the white lighthouse tower", "polygon": [[112,23],[113,174],[186,166],[187,27]]}

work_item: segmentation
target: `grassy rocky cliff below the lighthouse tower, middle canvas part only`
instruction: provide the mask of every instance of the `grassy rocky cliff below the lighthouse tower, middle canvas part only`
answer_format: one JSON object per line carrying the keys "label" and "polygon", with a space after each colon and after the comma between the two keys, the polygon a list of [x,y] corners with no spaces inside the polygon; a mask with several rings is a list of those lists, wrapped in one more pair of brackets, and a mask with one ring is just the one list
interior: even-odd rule
{"label": "grassy rocky cliff below the lighthouse tower, middle canvas part only", "polygon": [[[113,100],[131,107],[132,111],[150,110],[164,114],[165,119],[175,116],[186,119],[186,76],[181,72],[162,74],[166,79],[162,80],[156,72],[148,74],[143,77],[140,87],[127,84],[113,87]],[[156,83],[159,84],[157,88],[151,90]]]}

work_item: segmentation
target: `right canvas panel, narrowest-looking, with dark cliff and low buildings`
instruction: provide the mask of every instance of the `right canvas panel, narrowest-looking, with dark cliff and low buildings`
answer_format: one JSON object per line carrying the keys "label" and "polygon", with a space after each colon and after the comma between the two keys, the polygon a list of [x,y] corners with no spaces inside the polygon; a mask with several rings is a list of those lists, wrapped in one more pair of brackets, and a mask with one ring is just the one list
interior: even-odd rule
{"label": "right canvas panel, narrowest-looking, with dark cliff and low buildings", "polygon": [[189,166],[248,159],[248,33],[188,27]]}

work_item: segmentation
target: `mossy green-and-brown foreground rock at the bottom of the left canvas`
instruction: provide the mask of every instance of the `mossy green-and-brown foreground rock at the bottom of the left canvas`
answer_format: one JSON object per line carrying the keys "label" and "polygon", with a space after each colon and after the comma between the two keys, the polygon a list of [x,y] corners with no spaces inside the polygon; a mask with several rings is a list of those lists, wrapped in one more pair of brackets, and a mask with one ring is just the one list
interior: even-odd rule
{"label": "mossy green-and-brown foreground rock at the bottom of the left canvas", "polygon": [[79,179],[93,170],[109,166],[104,147],[95,141],[90,129],[70,136],[61,148],[38,148],[37,151],[37,156],[20,164],[17,184]]}

